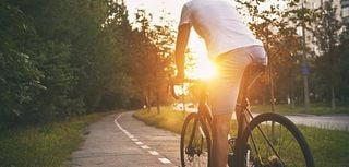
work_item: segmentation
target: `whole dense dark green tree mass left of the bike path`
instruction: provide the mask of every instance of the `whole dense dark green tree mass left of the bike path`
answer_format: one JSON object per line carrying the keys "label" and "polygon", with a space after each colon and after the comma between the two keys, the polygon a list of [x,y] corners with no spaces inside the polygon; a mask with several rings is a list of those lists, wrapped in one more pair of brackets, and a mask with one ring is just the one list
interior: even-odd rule
{"label": "whole dense dark green tree mass left of the bike path", "polygon": [[130,107],[123,2],[0,3],[0,129]]}

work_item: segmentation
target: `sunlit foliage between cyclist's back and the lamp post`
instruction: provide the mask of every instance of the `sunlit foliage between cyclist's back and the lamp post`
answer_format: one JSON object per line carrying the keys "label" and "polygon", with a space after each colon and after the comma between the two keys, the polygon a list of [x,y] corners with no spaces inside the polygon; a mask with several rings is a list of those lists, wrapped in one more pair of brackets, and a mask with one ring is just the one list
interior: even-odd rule
{"label": "sunlit foliage between cyclist's back and the lamp post", "polygon": [[[240,11],[248,11],[241,14],[252,17],[249,22],[250,28],[264,43],[268,56],[268,72],[257,81],[251,97],[264,102],[272,96],[289,96],[292,102],[302,97],[302,87],[299,86],[302,45],[297,27],[304,25],[305,28],[310,28],[316,12],[297,8],[301,2],[294,0],[275,3],[239,0],[238,3]],[[270,95],[268,90],[275,92],[275,95]]]}

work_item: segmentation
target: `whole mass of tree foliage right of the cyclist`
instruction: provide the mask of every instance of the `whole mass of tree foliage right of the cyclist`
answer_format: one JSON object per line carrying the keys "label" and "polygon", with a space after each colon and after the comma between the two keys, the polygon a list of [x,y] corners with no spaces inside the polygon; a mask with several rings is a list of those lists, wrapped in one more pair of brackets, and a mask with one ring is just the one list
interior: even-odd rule
{"label": "whole mass of tree foliage right of the cyclist", "polygon": [[[274,80],[275,98],[285,103],[291,99],[293,105],[303,104],[301,35],[297,28],[302,26],[308,35],[314,35],[320,55],[311,48],[304,48],[310,69],[310,98],[314,103],[332,102],[332,107],[348,103],[348,41],[345,28],[337,21],[336,7],[332,1],[322,3],[318,9],[300,8],[302,1],[287,0],[282,3],[265,3],[264,0],[239,0],[243,15],[251,29],[264,43],[268,53],[270,72]],[[261,5],[263,4],[263,5]],[[339,33],[342,38],[339,40]],[[311,34],[312,33],[312,34]],[[310,41],[311,43],[311,41]],[[262,77],[251,92],[252,99],[268,103],[273,82],[267,75]]]}

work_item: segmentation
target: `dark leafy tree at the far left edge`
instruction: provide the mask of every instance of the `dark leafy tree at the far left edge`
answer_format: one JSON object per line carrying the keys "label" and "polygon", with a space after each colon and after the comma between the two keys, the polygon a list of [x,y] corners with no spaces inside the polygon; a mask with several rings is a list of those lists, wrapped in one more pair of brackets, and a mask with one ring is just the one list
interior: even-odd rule
{"label": "dark leafy tree at the far left edge", "polygon": [[0,129],[29,112],[28,105],[45,90],[43,72],[21,48],[20,40],[33,33],[25,14],[11,3],[0,3]]}

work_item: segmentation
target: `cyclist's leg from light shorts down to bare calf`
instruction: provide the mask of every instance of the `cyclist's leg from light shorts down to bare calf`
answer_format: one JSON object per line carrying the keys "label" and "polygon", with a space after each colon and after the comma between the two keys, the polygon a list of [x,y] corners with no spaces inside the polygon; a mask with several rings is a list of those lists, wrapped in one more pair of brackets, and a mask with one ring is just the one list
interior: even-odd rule
{"label": "cyclist's leg from light shorts down to bare calf", "polygon": [[217,74],[209,92],[213,111],[212,167],[227,166],[231,115],[236,108],[243,71],[250,62],[251,58],[243,49],[227,52],[216,61]]}

